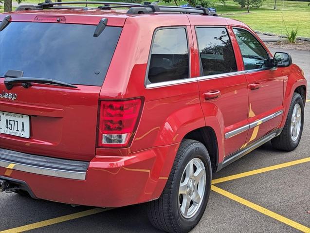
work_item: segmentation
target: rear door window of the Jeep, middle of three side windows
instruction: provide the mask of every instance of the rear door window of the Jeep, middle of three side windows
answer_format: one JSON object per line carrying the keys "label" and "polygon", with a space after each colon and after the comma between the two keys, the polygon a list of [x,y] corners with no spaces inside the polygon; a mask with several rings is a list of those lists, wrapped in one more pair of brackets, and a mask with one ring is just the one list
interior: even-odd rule
{"label": "rear door window of the Jeep, middle of three side windows", "polygon": [[203,75],[236,72],[236,60],[225,28],[197,27]]}

